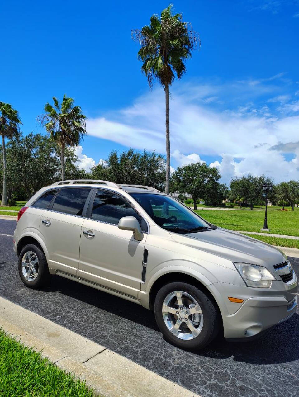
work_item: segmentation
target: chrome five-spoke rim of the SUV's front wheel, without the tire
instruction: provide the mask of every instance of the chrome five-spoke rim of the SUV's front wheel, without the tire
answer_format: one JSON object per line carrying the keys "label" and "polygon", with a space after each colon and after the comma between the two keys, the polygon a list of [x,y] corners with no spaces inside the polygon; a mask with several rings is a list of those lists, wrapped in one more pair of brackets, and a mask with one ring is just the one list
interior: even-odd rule
{"label": "chrome five-spoke rim of the SUV's front wheel, without the tire", "polygon": [[194,339],[203,329],[201,306],[187,292],[168,294],[163,302],[162,315],[168,330],[179,339]]}

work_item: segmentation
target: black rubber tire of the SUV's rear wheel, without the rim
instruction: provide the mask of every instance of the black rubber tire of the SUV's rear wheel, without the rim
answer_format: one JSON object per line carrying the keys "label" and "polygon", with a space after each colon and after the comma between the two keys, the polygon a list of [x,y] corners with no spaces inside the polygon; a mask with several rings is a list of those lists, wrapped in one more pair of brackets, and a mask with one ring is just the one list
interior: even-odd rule
{"label": "black rubber tire of the SUV's rear wheel, without the rim", "polygon": [[[23,256],[26,252],[31,251],[33,252],[38,259],[38,272],[37,276],[33,281],[29,281],[25,278],[22,270],[22,259]],[[18,262],[18,270],[19,270],[19,275],[21,277],[21,280],[23,281],[23,284],[26,287],[33,288],[33,289],[38,289],[41,287],[44,287],[46,284],[50,282],[51,279],[51,274],[49,272],[48,268],[48,263],[46,260],[46,256],[44,252],[34,244],[27,244],[25,247],[22,249],[22,251],[19,254],[19,262]]]}

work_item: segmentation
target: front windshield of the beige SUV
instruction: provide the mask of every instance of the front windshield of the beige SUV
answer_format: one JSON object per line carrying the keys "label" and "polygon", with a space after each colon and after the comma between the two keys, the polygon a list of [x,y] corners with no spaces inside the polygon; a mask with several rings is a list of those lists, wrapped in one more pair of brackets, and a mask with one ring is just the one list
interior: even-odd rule
{"label": "front windshield of the beige SUV", "polygon": [[154,193],[130,193],[130,195],[150,218],[165,230],[175,233],[197,233],[216,228],[170,196]]}

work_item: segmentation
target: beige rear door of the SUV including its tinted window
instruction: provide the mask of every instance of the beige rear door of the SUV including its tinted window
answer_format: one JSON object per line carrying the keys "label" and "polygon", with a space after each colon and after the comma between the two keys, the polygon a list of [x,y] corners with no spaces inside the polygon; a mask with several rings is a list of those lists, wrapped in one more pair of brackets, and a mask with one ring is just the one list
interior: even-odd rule
{"label": "beige rear door of the SUV including its tinted window", "polygon": [[81,226],[90,193],[88,187],[62,188],[43,212],[39,235],[47,247],[50,268],[77,275]]}

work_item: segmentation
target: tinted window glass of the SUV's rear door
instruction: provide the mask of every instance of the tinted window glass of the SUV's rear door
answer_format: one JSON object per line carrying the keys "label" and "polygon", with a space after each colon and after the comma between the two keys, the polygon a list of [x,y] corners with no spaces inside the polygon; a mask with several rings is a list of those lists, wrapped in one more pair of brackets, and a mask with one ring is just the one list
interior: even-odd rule
{"label": "tinted window glass of the SUV's rear door", "polygon": [[81,216],[90,191],[91,189],[82,187],[61,189],[55,198],[52,210]]}

